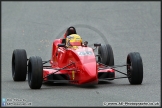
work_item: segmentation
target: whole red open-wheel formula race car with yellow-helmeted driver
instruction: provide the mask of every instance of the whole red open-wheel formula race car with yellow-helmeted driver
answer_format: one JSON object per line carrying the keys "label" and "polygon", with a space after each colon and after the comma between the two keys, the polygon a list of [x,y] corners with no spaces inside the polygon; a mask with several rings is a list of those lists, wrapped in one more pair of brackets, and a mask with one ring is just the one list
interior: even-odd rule
{"label": "whole red open-wheel formula race car with yellow-helmeted driver", "polygon": [[[95,55],[94,50],[98,50]],[[49,66],[45,66],[50,63]],[[127,72],[118,71],[117,67],[126,66]],[[115,72],[125,77],[115,77]],[[114,65],[114,55],[109,44],[94,44],[88,47],[88,42],[82,43],[77,34],[56,39],[52,45],[52,56],[48,61],[41,57],[27,58],[24,49],[15,49],[12,54],[12,77],[14,81],[25,81],[31,89],[40,89],[42,83],[70,83],[76,85],[95,85],[99,81],[128,78],[130,84],[141,84],[143,80],[143,64],[138,52],[131,52],[126,58],[126,64]]]}

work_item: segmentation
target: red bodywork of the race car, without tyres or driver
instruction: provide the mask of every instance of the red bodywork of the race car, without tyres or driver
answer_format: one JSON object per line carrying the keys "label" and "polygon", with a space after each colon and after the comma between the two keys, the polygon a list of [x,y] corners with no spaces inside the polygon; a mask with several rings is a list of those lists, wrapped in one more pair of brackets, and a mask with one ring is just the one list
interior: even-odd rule
{"label": "red bodywork of the race car, without tyres or driver", "polygon": [[[77,49],[58,47],[58,44],[61,43],[62,39],[56,39],[53,42],[50,60],[51,67],[43,68],[44,81],[67,80],[77,85],[93,85],[98,84],[100,78],[115,77],[115,71],[113,69],[98,70],[102,68],[102,65],[96,62],[96,56],[91,47],[78,46]],[[84,55],[84,52],[88,52],[88,54]],[[62,69],[65,66],[67,67]],[[58,71],[58,69],[60,70]],[[105,73],[107,75],[103,75]],[[46,77],[47,75],[50,76]]]}

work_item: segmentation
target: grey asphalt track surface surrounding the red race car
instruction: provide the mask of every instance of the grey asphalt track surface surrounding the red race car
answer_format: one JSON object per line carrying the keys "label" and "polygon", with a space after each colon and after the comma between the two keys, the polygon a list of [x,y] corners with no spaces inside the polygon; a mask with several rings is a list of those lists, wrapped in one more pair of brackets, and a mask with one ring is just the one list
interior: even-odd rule
{"label": "grey asphalt track surface surrounding the red race car", "polygon": [[[2,2],[2,98],[19,98],[32,106],[103,106],[103,102],[160,102],[160,2]],[[43,85],[31,90],[28,82],[14,82],[11,57],[25,49],[49,60],[54,39],[75,26],[83,40],[112,46],[115,64],[125,64],[129,52],[143,60],[141,85],[116,79],[92,87]],[[93,46],[92,46],[93,47]],[[126,72],[126,68],[118,68]],[[122,76],[116,74],[117,76]]]}

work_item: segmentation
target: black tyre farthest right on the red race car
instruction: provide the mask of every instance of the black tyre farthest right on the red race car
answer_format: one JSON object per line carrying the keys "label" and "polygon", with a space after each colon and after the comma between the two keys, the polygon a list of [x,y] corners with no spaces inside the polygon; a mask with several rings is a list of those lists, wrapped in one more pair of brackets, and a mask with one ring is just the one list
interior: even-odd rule
{"label": "black tyre farthest right on the red race car", "polygon": [[138,52],[129,53],[127,56],[127,75],[130,84],[141,84],[143,80],[143,63]]}

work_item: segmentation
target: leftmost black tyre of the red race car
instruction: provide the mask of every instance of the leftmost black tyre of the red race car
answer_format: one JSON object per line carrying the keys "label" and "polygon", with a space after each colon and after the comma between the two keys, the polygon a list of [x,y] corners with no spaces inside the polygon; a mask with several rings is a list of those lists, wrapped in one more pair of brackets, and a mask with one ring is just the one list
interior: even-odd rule
{"label": "leftmost black tyre of the red race car", "polygon": [[25,81],[27,74],[27,54],[24,49],[15,49],[12,54],[12,78]]}

